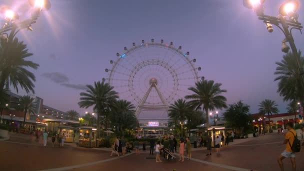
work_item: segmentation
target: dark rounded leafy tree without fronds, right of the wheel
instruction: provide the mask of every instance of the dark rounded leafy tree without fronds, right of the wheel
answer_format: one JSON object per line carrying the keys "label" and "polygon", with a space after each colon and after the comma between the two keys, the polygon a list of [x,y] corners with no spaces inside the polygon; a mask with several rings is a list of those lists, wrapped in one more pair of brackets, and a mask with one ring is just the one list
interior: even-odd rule
{"label": "dark rounded leafy tree without fronds, right of the wheel", "polygon": [[251,115],[249,114],[250,106],[244,104],[242,101],[237,101],[236,103],[229,104],[229,107],[223,113],[224,120],[226,120],[226,127],[236,128],[238,130],[244,131],[250,129],[248,123],[251,122]]}

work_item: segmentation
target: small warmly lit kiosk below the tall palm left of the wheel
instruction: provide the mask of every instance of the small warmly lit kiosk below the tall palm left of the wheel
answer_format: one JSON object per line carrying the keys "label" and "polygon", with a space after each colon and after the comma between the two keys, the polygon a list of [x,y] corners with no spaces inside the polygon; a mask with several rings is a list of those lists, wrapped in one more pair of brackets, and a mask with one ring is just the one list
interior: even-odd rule
{"label": "small warmly lit kiosk below the tall palm left of the wheel", "polygon": [[91,126],[80,126],[78,146],[95,148],[96,147],[96,128]]}

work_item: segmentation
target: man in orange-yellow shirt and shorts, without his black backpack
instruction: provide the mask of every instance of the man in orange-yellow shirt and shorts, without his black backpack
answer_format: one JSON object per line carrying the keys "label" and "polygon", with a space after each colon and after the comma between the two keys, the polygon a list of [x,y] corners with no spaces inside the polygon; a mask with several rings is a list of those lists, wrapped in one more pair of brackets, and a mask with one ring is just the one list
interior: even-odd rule
{"label": "man in orange-yellow shirt and shorts, without his black backpack", "polygon": [[284,139],[284,144],[286,144],[285,150],[278,156],[277,162],[280,167],[280,169],[283,171],[284,170],[284,165],[283,165],[283,159],[284,158],[290,158],[291,164],[292,164],[292,170],[295,171],[295,153],[292,152],[291,150],[291,145],[294,141],[294,136],[296,136],[296,132],[293,129],[293,123],[288,122],[287,123],[287,132],[285,133],[285,139]]}

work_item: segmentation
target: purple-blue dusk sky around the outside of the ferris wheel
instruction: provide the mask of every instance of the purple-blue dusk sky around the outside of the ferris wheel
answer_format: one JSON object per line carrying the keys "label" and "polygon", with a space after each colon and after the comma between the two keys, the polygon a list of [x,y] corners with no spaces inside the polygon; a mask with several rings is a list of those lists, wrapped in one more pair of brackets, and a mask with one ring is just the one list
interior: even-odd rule
{"label": "purple-blue dusk sky around the outside of the ferris wheel", "polygon": [[[108,61],[124,46],[154,38],[190,51],[195,65],[202,67],[199,75],[227,89],[223,95],[228,104],[243,100],[255,113],[258,103],[270,98],[280,112],[286,111],[273,81],[275,61],[284,54],[280,50],[284,35],[276,27],[267,32],[242,0],[50,1],[50,10],[42,12],[33,31],[17,35],[34,53],[30,60],[40,64],[33,71],[35,95],[48,106],[83,114],[87,109],[77,105],[83,85],[107,77]],[[283,1],[265,0],[265,13],[276,16]],[[0,0],[0,4],[20,11],[20,19],[28,16],[27,0]],[[299,22],[304,22],[304,9],[298,13]],[[295,29],[292,33],[297,48],[303,50],[304,36]]]}

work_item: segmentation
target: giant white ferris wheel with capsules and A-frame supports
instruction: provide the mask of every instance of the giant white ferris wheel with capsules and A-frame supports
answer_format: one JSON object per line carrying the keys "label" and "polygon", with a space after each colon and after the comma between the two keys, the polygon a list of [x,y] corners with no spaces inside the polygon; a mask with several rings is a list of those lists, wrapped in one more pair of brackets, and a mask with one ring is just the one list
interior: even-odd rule
{"label": "giant white ferris wheel with capsules and A-frame supports", "polygon": [[108,77],[102,80],[114,86],[119,98],[137,107],[137,116],[140,110],[167,110],[169,103],[191,93],[188,87],[204,79],[198,76],[201,67],[194,66],[196,59],[173,42],[141,40],[123,49],[110,60],[112,67],[105,69]]}

